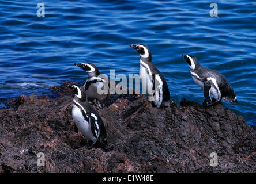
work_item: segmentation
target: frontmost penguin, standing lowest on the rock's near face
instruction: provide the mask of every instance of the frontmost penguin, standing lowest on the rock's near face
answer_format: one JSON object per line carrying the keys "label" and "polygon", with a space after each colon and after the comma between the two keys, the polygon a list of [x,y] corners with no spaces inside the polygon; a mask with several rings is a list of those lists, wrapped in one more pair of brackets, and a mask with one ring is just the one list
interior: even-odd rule
{"label": "frontmost penguin, standing lowest on the rock's near face", "polygon": [[103,121],[92,105],[85,101],[84,88],[76,85],[72,86],[75,97],[73,99],[72,117],[79,131],[91,145],[84,148],[92,148],[97,141],[107,144],[107,132]]}

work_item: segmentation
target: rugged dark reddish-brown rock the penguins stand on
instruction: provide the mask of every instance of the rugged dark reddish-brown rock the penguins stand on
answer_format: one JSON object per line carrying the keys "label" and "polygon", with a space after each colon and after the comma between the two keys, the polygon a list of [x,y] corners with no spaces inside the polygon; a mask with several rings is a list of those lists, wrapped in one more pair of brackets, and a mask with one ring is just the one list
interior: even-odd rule
{"label": "rugged dark reddish-brown rock the penguins stand on", "polygon": [[[107,129],[107,151],[74,149],[85,140],[73,129],[71,84],[53,87],[56,101],[30,95],[12,99],[17,110],[0,110],[0,172],[256,171],[256,133],[244,118],[186,99],[157,109],[145,95],[111,95],[102,108],[93,104]],[[45,167],[36,164],[39,152]]]}

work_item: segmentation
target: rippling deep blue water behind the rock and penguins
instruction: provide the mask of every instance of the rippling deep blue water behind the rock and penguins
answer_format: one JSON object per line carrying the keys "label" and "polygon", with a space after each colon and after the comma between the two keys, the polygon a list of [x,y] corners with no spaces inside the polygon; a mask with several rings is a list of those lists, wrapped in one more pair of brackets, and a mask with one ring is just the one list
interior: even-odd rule
{"label": "rippling deep blue water behind the rock and penguins", "polygon": [[[41,1],[40,1],[41,2]],[[202,103],[182,54],[223,73],[238,104],[223,102],[256,125],[256,3],[215,1],[0,1],[0,108],[7,99],[47,94],[65,80],[82,82],[75,62],[92,62],[110,75],[138,74],[139,56],[129,44],[146,44],[167,79],[172,100]]]}

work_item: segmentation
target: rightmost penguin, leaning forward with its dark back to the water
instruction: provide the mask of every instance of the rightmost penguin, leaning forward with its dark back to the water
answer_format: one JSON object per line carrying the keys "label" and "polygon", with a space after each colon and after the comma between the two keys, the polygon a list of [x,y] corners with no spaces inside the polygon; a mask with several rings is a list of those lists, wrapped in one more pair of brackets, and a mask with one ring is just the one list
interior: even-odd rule
{"label": "rightmost penguin, leaning forward with its dark back to the water", "polygon": [[[202,67],[197,57],[192,55],[182,55],[189,64],[190,73],[194,82],[204,89],[204,97],[206,105],[212,105],[224,99],[227,102],[237,103],[235,92],[228,80],[220,72]],[[210,94],[213,95],[215,101],[212,101]]]}

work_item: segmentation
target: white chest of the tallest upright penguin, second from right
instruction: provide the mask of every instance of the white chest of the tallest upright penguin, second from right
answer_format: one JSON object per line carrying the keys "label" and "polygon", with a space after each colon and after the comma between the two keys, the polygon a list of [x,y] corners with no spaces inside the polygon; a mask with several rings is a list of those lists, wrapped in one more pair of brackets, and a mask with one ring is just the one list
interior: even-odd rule
{"label": "white chest of the tallest upright penguin, second from right", "polygon": [[139,75],[143,92],[146,94],[152,94],[152,74],[149,67],[146,67],[145,63],[140,64]]}

